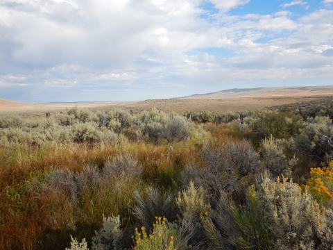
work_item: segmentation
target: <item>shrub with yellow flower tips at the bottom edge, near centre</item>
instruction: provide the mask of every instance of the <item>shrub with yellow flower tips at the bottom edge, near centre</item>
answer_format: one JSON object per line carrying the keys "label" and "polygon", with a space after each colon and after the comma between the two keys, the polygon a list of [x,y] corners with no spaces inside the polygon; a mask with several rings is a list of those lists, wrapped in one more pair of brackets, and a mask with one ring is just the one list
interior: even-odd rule
{"label": "shrub with yellow flower tips at the bottom edge, near centre", "polygon": [[[165,217],[155,217],[151,233],[142,226],[142,233],[135,228],[135,250],[183,250],[187,248],[187,238],[180,228],[170,224]],[[149,234],[148,234],[149,233]]]}

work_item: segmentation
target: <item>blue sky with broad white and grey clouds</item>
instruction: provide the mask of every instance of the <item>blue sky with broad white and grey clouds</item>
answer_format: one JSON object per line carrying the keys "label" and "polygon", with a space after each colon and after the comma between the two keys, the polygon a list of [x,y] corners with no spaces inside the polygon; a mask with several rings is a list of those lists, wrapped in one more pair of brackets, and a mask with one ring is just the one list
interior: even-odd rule
{"label": "blue sky with broad white and grey clouds", "polygon": [[333,85],[333,0],[0,0],[0,98]]}

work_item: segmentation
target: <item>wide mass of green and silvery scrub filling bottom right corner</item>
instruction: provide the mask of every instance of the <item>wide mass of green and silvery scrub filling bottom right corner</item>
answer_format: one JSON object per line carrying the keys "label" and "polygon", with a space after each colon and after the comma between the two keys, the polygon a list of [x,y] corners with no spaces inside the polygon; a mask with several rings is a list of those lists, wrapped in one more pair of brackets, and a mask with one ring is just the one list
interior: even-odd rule
{"label": "wide mass of green and silvery scrub filling bottom right corner", "polygon": [[266,176],[244,205],[222,193],[212,215],[202,215],[212,247],[235,249],[330,249],[331,219],[332,210],[320,208],[308,189]]}

